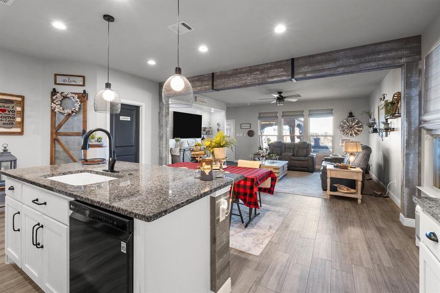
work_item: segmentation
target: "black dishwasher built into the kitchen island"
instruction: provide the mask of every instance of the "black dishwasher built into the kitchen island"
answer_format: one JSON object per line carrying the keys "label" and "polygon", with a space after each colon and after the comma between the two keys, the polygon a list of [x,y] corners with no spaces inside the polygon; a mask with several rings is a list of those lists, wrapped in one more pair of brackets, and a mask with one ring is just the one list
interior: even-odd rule
{"label": "black dishwasher built into the kitchen island", "polygon": [[133,219],[70,202],[70,292],[133,292]]}

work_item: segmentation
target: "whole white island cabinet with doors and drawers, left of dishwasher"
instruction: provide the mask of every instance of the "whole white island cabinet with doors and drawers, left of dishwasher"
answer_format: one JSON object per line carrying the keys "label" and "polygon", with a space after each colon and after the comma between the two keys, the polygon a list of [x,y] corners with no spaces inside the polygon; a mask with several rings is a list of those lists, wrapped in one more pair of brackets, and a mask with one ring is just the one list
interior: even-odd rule
{"label": "whole white island cabinet with doors and drawers, left of dishwasher", "polygon": [[6,179],[5,254],[45,293],[69,292],[69,201]]}

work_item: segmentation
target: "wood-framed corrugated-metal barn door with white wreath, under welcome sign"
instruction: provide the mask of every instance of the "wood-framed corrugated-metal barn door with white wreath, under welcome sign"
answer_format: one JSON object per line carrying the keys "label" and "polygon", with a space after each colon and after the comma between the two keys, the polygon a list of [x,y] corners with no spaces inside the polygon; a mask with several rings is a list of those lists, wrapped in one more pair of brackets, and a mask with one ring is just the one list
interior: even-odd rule
{"label": "wood-framed corrugated-metal barn door with white wreath, under welcome sign", "polygon": [[[52,91],[51,104],[53,97],[58,92]],[[52,107],[50,111],[50,164],[63,164],[78,162],[82,158],[81,144],[83,134],[87,129],[87,94],[72,93],[81,102],[79,110],[72,114],[64,115],[56,112]],[[74,101],[65,98],[61,101],[63,109],[74,106]],[[85,157],[85,151],[84,151]]]}

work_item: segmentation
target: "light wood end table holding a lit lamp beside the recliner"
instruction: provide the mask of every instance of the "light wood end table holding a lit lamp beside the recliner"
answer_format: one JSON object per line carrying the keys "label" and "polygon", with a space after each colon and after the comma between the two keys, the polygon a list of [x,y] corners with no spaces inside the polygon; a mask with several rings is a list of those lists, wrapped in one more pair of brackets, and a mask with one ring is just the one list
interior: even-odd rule
{"label": "light wood end table holding a lit lamp beside the recliner", "polygon": [[[342,193],[339,191],[330,191],[330,179],[331,178],[344,178],[356,180],[356,193]],[[362,200],[361,194],[362,188],[362,169],[360,168],[349,168],[341,169],[335,166],[327,166],[327,199],[330,195],[348,196],[357,198],[357,203],[360,204]]]}

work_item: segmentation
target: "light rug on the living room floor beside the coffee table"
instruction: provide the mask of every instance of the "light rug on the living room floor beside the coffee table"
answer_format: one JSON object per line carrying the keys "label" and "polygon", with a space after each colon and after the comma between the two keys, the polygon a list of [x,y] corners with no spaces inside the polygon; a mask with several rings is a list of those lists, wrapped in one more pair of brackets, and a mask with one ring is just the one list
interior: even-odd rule
{"label": "light rug on the living room floor beside the coffee table", "polygon": [[275,191],[326,197],[326,192],[321,188],[320,172],[287,171],[287,174],[275,185]]}

